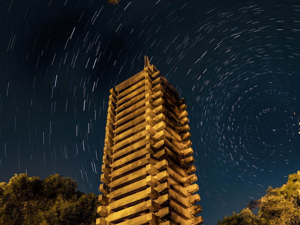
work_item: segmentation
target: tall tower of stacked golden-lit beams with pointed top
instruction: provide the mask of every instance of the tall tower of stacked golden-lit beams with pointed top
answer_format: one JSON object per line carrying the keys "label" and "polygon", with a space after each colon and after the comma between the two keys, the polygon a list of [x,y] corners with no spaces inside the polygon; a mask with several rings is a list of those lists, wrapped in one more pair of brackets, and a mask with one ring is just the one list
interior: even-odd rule
{"label": "tall tower of stacked golden-lit beams with pointed top", "polygon": [[184,98],[147,56],[109,98],[96,224],[203,223]]}

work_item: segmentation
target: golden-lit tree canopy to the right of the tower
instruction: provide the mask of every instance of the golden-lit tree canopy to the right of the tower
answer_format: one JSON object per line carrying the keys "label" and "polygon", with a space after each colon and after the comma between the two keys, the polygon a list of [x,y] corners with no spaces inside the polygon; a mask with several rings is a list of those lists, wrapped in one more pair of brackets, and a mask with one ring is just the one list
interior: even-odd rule
{"label": "golden-lit tree canopy to the right of the tower", "polygon": [[[258,214],[252,211],[258,209]],[[251,211],[252,210],[252,211]],[[224,217],[218,225],[299,225],[300,224],[300,171],[289,175],[282,187],[271,186],[259,200],[249,202],[239,214]]]}

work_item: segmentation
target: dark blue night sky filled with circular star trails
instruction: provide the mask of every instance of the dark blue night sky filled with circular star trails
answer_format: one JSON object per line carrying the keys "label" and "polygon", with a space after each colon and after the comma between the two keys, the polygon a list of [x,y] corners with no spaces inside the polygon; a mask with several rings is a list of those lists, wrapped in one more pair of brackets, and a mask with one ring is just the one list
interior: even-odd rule
{"label": "dark blue night sky filled with circular star trails", "polygon": [[204,224],[299,168],[300,1],[4,0],[0,181],[99,194],[109,90],[149,56],[186,99]]}

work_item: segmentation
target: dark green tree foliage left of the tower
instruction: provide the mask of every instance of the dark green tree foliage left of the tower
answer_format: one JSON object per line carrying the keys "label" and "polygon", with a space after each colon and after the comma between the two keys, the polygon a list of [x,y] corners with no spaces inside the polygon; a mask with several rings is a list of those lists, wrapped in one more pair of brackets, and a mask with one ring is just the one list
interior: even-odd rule
{"label": "dark green tree foliage left of the tower", "polygon": [[95,224],[98,196],[75,191],[76,180],[15,174],[0,182],[0,224]]}

